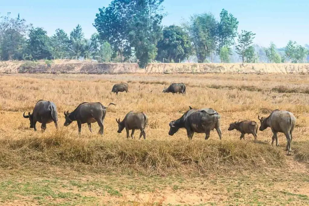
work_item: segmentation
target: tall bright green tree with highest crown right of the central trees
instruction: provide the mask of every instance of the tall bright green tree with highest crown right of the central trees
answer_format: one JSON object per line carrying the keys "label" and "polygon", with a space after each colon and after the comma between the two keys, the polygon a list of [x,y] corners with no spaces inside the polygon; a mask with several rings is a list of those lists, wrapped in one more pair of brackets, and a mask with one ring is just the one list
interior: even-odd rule
{"label": "tall bright green tree with highest crown right of the central trees", "polygon": [[239,22],[225,9],[222,9],[220,13],[220,22],[217,26],[217,51],[221,52],[221,48],[226,46],[230,47],[235,43],[235,37],[237,36]]}

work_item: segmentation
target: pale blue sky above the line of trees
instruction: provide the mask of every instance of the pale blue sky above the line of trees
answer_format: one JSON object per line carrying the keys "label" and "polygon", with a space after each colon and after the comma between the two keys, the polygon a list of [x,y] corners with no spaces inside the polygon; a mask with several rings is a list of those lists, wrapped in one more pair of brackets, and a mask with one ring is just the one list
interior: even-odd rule
{"label": "pale blue sky above the line of trees", "polygon": [[[67,33],[79,23],[85,37],[89,38],[96,30],[92,26],[98,8],[108,6],[111,1],[91,0],[1,0],[0,15],[11,12],[20,16],[34,27],[44,27],[48,35],[57,28]],[[163,25],[180,24],[181,19],[204,12],[213,13],[219,18],[224,8],[239,20],[239,31],[256,33],[255,43],[262,46],[273,41],[278,47],[288,40],[298,44],[309,44],[309,1],[308,0],[165,0],[167,16]]]}

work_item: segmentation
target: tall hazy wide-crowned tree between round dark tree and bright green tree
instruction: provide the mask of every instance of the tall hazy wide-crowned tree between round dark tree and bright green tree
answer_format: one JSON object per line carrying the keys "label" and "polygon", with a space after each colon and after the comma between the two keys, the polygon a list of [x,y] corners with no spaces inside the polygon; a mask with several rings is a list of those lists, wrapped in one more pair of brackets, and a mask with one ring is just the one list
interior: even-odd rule
{"label": "tall hazy wide-crowned tree between round dark tree and bright green tree", "polygon": [[203,63],[206,57],[213,62],[216,50],[217,21],[211,13],[191,16],[185,25],[197,54],[197,61]]}

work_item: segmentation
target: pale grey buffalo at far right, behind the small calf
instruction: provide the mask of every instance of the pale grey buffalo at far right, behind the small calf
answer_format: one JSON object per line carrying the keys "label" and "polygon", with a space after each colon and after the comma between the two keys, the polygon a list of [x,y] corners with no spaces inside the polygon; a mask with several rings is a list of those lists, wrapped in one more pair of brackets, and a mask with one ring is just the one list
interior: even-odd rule
{"label": "pale grey buffalo at far right, behind the small calf", "polygon": [[288,151],[288,155],[290,155],[292,152],[292,132],[296,124],[296,118],[293,113],[276,109],[272,111],[268,117],[260,118],[260,116],[258,116],[258,119],[261,122],[260,131],[263,131],[268,127],[271,128],[273,132],[272,144],[276,140],[276,146],[279,146],[277,132],[282,132],[286,135],[286,150]]}

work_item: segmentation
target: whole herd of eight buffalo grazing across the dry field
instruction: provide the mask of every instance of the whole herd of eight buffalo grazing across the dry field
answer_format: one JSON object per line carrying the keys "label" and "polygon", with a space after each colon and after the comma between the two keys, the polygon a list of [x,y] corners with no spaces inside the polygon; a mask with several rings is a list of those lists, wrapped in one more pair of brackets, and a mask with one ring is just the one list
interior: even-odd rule
{"label": "whole herd of eight buffalo grazing across the dry field", "polygon": [[[112,88],[112,92],[116,94],[124,91],[129,92],[128,84],[126,83],[115,84]],[[185,94],[186,86],[184,83],[172,83],[167,89],[164,89],[163,92]],[[110,103],[109,105],[116,104]],[[68,126],[73,121],[77,121],[78,133],[80,134],[82,124],[87,123],[90,132],[92,132],[91,123],[97,122],[100,127],[99,133],[103,135],[103,122],[107,108],[108,107],[103,106],[99,102],[83,102],[79,104],[74,111],[64,112],[66,119],[64,126]],[[32,114],[28,112],[28,115],[25,115],[24,112],[23,117],[29,118],[30,128],[34,128],[34,131],[36,131],[37,122],[41,123],[42,132],[45,131],[46,124],[51,122],[54,122],[55,127],[58,128],[57,107],[50,101],[39,100],[36,103]],[[295,116],[289,111],[276,109],[273,110],[268,117],[260,118],[260,116],[258,116],[258,119],[260,120],[260,131],[263,131],[268,127],[271,128],[273,132],[272,144],[276,140],[276,145],[279,146],[277,132],[282,132],[285,134],[287,139],[286,150],[288,151],[288,155],[290,155],[292,152],[292,132],[296,124]],[[145,127],[148,123],[148,117],[143,112],[130,111],[122,121],[120,119],[116,119],[116,122],[118,124],[118,133],[121,133],[125,128],[127,138],[129,138],[129,130],[132,130],[131,137],[133,139],[135,130],[139,129],[141,131],[139,138],[143,136],[143,138],[146,139]],[[168,134],[171,136],[174,135],[180,128],[185,128],[189,139],[192,139],[194,132],[196,132],[205,133],[205,140],[207,140],[210,136],[210,131],[216,129],[220,140],[222,138],[220,115],[212,108],[195,109],[189,106],[189,110],[186,111],[179,119],[171,121],[169,126],[170,130]],[[255,121],[244,120],[241,122],[231,123],[228,130],[231,131],[236,129],[241,132],[240,139],[243,139],[245,134],[252,134],[254,139],[256,139],[257,128],[258,124]]]}

